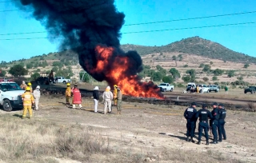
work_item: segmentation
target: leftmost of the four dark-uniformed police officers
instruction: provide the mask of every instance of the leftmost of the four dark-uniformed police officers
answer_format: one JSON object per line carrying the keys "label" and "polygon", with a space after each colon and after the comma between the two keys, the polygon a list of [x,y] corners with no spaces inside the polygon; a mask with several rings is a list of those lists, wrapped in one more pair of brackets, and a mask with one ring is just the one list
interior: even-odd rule
{"label": "leftmost of the four dark-uniformed police officers", "polygon": [[186,141],[194,142],[194,129],[197,121],[197,118],[195,117],[195,114],[197,113],[197,109],[195,109],[196,105],[195,102],[192,102],[191,106],[184,112],[184,117],[186,118]]}

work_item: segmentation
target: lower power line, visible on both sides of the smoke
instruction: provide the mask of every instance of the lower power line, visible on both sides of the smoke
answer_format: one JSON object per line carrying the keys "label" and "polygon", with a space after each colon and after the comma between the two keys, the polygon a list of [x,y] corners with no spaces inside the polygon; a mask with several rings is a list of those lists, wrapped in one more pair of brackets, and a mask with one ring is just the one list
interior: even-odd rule
{"label": "lower power line, visible on both sides of the smoke", "polygon": [[[122,34],[162,32],[162,31],[168,31],[168,30],[192,30],[192,29],[200,29],[200,28],[221,27],[221,26],[236,26],[236,25],[255,24],[255,23],[256,22],[241,22],[241,23],[233,23],[233,24],[222,24],[222,25],[212,25],[212,26],[194,26],[194,27],[174,28],[174,29],[166,29],[166,30],[143,30],[143,31],[135,31],[135,32],[125,32],[125,33],[122,33]],[[22,34],[22,33],[20,33],[20,34]],[[27,33],[24,33],[24,34],[27,34]],[[34,32],[32,34],[34,34]],[[63,38],[63,37],[50,37],[50,38]],[[31,40],[31,39],[42,39],[42,38],[2,38],[0,40]]]}

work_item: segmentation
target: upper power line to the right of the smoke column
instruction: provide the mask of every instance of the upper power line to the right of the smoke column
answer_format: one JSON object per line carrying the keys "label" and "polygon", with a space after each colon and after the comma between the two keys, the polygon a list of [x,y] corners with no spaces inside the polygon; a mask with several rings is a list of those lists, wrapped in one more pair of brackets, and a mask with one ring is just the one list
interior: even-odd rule
{"label": "upper power line to the right of the smoke column", "polygon": [[174,19],[169,21],[141,22],[141,23],[135,23],[135,24],[126,24],[123,26],[138,26],[138,25],[156,24],[156,23],[162,23],[162,22],[178,22],[178,21],[186,21],[186,20],[194,20],[194,19],[202,19],[202,18],[216,18],[216,17],[225,17],[225,16],[232,16],[232,15],[239,15],[239,14],[253,14],[253,13],[256,13],[256,11],[234,13],[234,14],[218,14],[218,15],[206,16],[206,17],[181,18],[181,19]]}

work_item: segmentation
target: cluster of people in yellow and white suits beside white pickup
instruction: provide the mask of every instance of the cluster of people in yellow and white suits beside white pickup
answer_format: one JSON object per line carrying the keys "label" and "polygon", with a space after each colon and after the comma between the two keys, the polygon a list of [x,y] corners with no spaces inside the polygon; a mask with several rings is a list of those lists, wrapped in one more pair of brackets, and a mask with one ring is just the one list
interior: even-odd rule
{"label": "cluster of people in yellow and white suits beside white pickup", "polygon": [[25,93],[22,94],[23,101],[23,113],[22,118],[26,117],[26,113],[29,112],[30,118],[33,116],[32,105],[34,105],[34,110],[38,110],[39,99],[41,96],[40,86],[37,85],[36,89],[32,89],[32,84],[29,82],[27,85],[25,81],[22,81],[20,85],[22,89],[25,90]]}

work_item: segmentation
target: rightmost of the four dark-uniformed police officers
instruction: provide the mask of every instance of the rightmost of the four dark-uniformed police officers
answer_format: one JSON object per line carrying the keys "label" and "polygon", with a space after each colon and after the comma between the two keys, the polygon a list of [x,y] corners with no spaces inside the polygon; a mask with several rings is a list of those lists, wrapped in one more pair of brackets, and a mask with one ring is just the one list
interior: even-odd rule
{"label": "rightmost of the four dark-uniformed police officers", "polygon": [[222,142],[222,136],[223,140],[226,140],[226,131],[224,128],[225,125],[225,117],[226,117],[226,109],[224,109],[223,104],[218,105],[218,141]]}

